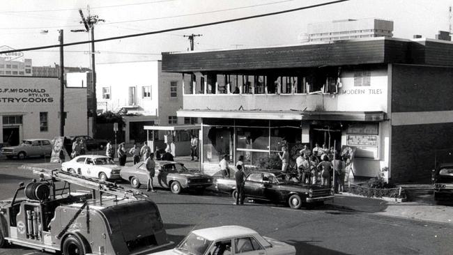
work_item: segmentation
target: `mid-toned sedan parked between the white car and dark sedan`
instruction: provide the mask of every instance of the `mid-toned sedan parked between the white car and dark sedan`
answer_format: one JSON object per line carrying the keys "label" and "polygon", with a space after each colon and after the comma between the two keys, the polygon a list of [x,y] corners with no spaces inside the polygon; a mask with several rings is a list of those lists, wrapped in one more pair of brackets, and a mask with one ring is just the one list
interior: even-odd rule
{"label": "mid-toned sedan parked between the white car and dark sedan", "polygon": [[[130,181],[130,185],[135,188],[146,185],[148,171],[145,163],[124,167],[121,169],[121,178]],[[179,194],[183,189],[203,192],[206,187],[213,185],[213,178],[199,171],[190,171],[178,162],[156,161],[153,184],[169,188],[174,194]]]}

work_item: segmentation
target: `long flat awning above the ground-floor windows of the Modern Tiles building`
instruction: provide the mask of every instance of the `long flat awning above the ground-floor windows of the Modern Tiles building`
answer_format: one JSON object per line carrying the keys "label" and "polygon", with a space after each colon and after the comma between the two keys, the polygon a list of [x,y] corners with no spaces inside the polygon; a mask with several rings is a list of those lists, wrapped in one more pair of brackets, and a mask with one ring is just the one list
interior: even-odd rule
{"label": "long flat awning above the ground-floor windows of the Modern Tiles building", "polygon": [[[227,111],[189,110],[177,111],[178,117],[241,118],[284,121],[384,121],[383,111]],[[146,129],[146,128],[145,128]]]}

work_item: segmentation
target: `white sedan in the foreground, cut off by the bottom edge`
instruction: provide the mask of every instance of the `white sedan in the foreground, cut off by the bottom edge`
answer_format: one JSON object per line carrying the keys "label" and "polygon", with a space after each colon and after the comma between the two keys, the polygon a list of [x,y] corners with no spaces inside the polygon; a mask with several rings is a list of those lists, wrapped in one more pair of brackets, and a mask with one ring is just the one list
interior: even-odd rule
{"label": "white sedan in the foreground, cut off by the bottom edge", "polygon": [[243,226],[218,226],[194,230],[174,249],[153,254],[290,255],[295,254],[295,248]]}

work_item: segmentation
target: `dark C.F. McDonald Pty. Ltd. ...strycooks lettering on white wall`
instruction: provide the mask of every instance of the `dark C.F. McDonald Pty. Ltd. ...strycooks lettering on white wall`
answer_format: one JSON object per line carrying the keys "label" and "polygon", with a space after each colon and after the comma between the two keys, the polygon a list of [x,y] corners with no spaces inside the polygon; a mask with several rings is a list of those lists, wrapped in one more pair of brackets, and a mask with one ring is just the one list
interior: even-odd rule
{"label": "dark C.F. McDonald Pty. Ltd. ...strycooks lettering on white wall", "polygon": [[[19,94],[19,95],[17,95]],[[0,88],[0,103],[54,102],[45,88]]]}

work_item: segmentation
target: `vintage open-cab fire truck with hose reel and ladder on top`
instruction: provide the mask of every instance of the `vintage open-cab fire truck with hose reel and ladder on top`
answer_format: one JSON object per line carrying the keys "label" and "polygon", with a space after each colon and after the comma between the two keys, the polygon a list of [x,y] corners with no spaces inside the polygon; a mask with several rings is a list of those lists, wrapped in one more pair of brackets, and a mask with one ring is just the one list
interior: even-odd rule
{"label": "vintage open-cab fire truck with hose reel and ladder on top", "polygon": [[[20,183],[13,199],[0,201],[0,247],[122,255],[171,244],[158,206],[141,192],[61,170],[33,173],[39,181]],[[71,192],[71,185],[89,191]],[[25,197],[19,199],[21,190]]]}

